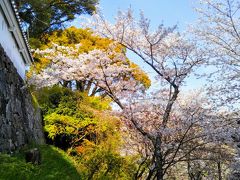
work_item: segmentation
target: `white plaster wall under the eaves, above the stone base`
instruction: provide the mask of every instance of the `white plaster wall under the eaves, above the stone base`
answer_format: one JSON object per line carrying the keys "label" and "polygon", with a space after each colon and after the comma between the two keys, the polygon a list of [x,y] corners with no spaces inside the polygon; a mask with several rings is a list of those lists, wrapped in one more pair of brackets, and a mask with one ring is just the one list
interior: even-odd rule
{"label": "white plaster wall under the eaves, above the stone base", "polygon": [[0,10],[0,44],[3,46],[7,56],[11,59],[19,75],[25,79],[26,66],[24,60],[17,48],[14,37],[9,31],[7,23]]}

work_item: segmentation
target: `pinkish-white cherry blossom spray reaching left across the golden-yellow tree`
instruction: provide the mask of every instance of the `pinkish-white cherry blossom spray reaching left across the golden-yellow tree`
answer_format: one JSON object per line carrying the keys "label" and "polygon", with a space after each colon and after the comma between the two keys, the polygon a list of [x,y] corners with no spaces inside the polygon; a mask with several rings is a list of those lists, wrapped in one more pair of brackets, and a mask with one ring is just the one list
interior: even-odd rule
{"label": "pinkish-white cherry blossom spray reaching left across the golden-yellow tree", "polygon": [[53,44],[45,50],[35,50],[35,54],[50,60],[50,64],[40,73],[33,72],[30,84],[38,88],[63,82],[88,82],[84,90],[93,96],[96,93],[108,95],[120,107],[119,97],[129,97],[137,91],[144,91],[146,84],[138,76],[145,75],[138,66],[129,66],[124,52],[116,52],[116,44],[111,44],[107,51],[92,50],[78,53],[80,44],[59,46]]}

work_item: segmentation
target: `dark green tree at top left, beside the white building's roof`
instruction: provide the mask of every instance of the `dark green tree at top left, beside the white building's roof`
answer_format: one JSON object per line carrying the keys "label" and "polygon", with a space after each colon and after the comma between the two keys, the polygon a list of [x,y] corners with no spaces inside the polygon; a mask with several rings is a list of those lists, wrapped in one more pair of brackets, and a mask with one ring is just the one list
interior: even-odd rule
{"label": "dark green tree at top left, beside the white building's roof", "polygon": [[92,14],[98,0],[19,0],[19,15],[29,28],[30,37],[61,29],[81,14]]}

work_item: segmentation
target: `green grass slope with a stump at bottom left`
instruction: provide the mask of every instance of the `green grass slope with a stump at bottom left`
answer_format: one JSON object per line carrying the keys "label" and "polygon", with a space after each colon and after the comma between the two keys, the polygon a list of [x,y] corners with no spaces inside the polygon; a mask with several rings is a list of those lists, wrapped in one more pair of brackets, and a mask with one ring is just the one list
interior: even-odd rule
{"label": "green grass slope with a stump at bottom left", "polygon": [[41,164],[26,163],[24,151],[13,155],[0,154],[0,180],[78,180],[74,161],[62,150],[43,145],[39,147]]}

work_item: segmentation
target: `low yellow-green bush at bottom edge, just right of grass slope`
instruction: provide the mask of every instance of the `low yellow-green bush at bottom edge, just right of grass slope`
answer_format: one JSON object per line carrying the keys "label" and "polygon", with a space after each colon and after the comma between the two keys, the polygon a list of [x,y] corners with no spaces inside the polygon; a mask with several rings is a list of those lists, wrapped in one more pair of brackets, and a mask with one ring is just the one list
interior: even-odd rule
{"label": "low yellow-green bush at bottom edge, just right of grass slope", "polygon": [[84,143],[86,150],[78,158],[78,169],[85,179],[134,179],[136,164],[133,158],[123,157],[109,149],[107,144],[89,145]]}

